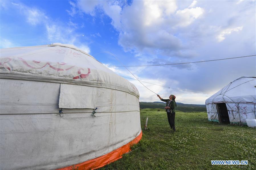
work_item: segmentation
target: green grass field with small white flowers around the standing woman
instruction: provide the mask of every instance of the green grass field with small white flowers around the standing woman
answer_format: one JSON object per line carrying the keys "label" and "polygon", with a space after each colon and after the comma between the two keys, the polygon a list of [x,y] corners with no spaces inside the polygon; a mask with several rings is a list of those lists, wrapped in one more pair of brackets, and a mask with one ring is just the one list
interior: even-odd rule
{"label": "green grass field with small white flowers around the standing woman", "polygon": [[[142,140],[101,169],[256,169],[255,128],[208,122],[206,112],[176,111],[174,133],[166,112],[157,110],[141,110]],[[211,160],[248,160],[248,165],[211,165]]]}

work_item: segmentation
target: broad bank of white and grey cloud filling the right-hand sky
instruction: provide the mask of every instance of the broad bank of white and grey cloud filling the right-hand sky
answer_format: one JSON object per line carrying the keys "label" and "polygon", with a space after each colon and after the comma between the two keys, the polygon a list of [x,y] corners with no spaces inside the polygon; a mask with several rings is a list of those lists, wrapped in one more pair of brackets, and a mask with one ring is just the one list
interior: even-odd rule
{"label": "broad bank of white and grey cloud filling the right-hand sky", "polygon": [[[79,1],[77,7],[95,17],[97,17],[96,14],[109,16],[112,26],[119,33],[119,45],[124,51],[136,55],[136,61],[139,61],[134,63],[131,60],[127,65],[201,61],[243,56],[244,53],[255,52],[255,8],[253,8],[255,1],[244,1],[239,5],[236,5],[237,1],[218,1],[218,3],[215,1],[132,1],[129,5],[121,5],[118,2]],[[234,34],[232,38],[226,38],[238,31],[239,35]],[[218,41],[226,38],[226,41],[217,43],[216,38]],[[237,43],[230,46],[233,41]],[[234,49],[234,47],[237,48]],[[232,69],[236,64],[237,60],[129,69],[134,69],[132,73],[149,82],[164,80],[168,86],[174,88],[212,93],[213,89],[220,89],[226,85],[226,81],[247,75],[253,69],[255,71],[254,64],[238,72]],[[222,69],[216,70],[216,68]],[[131,77],[126,70],[110,69]],[[171,72],[171,76],[166,72]],[[223,72],[225,74],[222,74]],[[179,83],[173,85],[173,79]],[[141,93],[141,100],[156,100],[154,94],[145,87],[140,89],[140,84],[136,86]],[[157,87],[152,86],[152,88]],[[184,103],[203,104],[210,96],[175,89],[162,91],[159,89],[159,91],[167,97],[170,92],[175,93],[179,96],[178,100]],[[148,97],[151,95],[152,97]]]}

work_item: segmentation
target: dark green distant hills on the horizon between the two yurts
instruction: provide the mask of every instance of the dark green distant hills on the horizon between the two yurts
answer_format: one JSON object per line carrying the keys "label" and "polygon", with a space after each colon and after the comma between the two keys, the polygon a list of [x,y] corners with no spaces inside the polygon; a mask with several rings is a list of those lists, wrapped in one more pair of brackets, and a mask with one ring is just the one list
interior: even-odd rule
{"label": "dark green distant hills on the horizon between the two yurts", "polygon": [[[161,108],[164,109],[166,106],[165,102],[140,102],[140,108]],[[177,102],[177,107],[175,110],[179,110],[182,112],[206,112],[205,104],[184,104]]]}

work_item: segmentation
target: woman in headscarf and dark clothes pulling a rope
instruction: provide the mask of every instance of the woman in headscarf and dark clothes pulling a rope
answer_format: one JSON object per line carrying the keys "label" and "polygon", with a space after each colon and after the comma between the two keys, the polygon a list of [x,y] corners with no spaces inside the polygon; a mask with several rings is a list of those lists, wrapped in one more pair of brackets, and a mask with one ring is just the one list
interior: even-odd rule
{"label": "woman in headscarf and dark clothes pulling a rope", "polygon": [[157,95],[160,100],[162,100],[163,102],[166,102],[166,107],[165,107],[165,111],[167,112],[167,117],[168,117],[168,122],[171,126],[171,128],[173,129],[173,131],[176,131],[175,129],[175,107],[177,106],[176,102],[175,102],[175,96],[174,95],[170,95],[169,99],[163,99],[161,98],[159,95]]}

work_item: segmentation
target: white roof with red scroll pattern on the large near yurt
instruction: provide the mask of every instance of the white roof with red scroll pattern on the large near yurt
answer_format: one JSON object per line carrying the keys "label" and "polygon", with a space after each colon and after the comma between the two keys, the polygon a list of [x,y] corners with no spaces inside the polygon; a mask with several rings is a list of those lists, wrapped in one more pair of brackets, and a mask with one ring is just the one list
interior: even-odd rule
{"label": "white roof with red scroll pattern on the large near yurt", "polygon": [[132,83],[73,45],[54,43],[0,52],[1,78],[103,87],[139,98]]}

